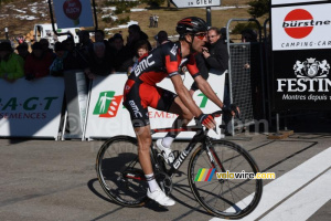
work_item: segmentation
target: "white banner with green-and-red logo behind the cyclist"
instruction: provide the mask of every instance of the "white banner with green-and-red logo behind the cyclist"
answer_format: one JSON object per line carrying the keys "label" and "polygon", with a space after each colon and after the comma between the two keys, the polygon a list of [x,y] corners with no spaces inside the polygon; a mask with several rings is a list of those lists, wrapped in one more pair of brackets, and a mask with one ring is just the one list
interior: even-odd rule
{"label": "white banner with green-and-red logo behind the cyclist", "polygon": [[[190,74],[182,76],[184,85],[190,88],[193,78]],[[224,75],[210,74],[209,82],[215,93],[223,99],[224,94]],[[130,120],[129,112],[122,106],[122,91],[127,81],[126,74],[111,74],[107,77],[97,77],[93,82],[90,93],[88,118],[86,125],[85,137],[108,138],[117,135],[129,135],[135,137],[134,128]],[[171,80],[163,80],[158,86],[174,92]],[[200,91],[194,93],[193,99],[203,113],[212,113],[220,108],[209,101]],[[149,118],[151,128],[171,127],[177,115],[156,110],[149,107]],[[221,124],[221,117],[216,118],[217,124]],[[193,120],[191,122],[193,125]],[[210,131],[210,136],[220,138],[220,128],[217,133]],[[181,133],[178,138],[192,138],[194,133]],[[153,137],[163,137],[164,133],[154,134]]]}

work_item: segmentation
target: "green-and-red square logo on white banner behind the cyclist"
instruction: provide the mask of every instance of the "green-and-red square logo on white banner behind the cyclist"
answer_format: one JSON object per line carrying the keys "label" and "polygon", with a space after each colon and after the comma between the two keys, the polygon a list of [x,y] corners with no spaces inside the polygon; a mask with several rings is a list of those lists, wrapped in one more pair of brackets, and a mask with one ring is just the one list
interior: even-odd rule
{"label": "green-and-red square logo on white banner behind the cyclist", "polygon": [[93,115],[99,117],[116,117],[122,95],[114,96],[115,92],[102,92],[94,107]]}

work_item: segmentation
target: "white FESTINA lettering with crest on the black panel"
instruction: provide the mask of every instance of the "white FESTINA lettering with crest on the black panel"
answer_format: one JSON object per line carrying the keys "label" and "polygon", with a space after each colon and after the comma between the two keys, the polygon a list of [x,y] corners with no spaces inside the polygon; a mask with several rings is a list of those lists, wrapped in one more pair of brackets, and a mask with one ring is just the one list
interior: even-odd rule
{"label": "white FESTINA lettering with crest on the black panel", "polygon": [[331,90],[329,72],[330,63],[327,60],[317,61],[314,57],[309,57],[305,61],[296,61],[292,73],[296,78],[277,78],[277,93],[296,93],[282,94],[284,101],[327,101]]}

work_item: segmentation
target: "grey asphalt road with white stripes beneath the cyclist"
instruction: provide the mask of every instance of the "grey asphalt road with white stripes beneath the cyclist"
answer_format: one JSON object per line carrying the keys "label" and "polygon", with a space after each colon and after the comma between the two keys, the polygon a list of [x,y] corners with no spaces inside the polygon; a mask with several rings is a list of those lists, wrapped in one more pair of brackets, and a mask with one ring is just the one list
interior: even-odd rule
{"label": "grey asphalt road with white stripes beneath the cyclist", "polygon": [[[260,170],[276,172],[276,180],[264,181],[257,212],[244,220],[275,220],[275,214],[276,220],[330,220],[331,160],[323,159],[331,156],[331,133],[298,133],[284,140],[267,139],[265,134],[236,138],[241,139],[234,141],[254,156]],[[0,220],[213,219],[188,187],[186,165],[173,179],[174,207],[166,209],[150,202],[130,209],[113,203],[95,171],[102,144],[0,139]],[[175,143],[173,148],[184,145]],[[310,169],[302,172],[301,166]],[[314,194],[321,197],[314,199]],[[302,217],[305,212],[308,214]]]}

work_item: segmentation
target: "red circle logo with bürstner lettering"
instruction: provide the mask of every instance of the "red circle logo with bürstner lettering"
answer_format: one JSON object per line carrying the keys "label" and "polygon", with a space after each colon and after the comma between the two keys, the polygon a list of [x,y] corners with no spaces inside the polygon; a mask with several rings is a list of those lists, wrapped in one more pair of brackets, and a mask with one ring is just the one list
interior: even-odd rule
{"label": "red circle logo with b\u00fcrstner lettering", "polygon": [[295,9],[284,19],[285,32],[293,39],[308,36],[314,27],[330,25],[330,20],[316,21],[310,12],[305,9]]}

